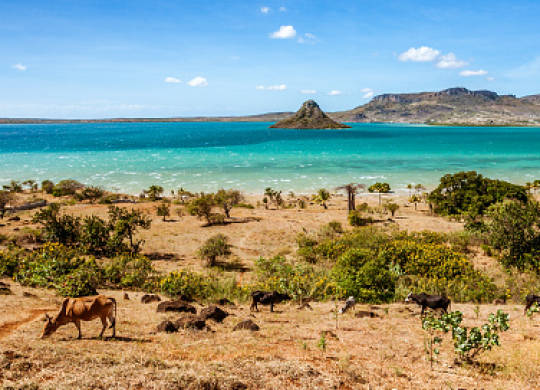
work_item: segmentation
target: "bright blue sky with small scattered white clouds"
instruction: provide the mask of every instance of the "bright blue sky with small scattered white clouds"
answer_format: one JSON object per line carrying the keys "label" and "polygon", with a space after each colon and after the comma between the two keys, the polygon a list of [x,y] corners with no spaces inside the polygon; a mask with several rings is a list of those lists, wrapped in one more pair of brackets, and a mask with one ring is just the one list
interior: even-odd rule
{"label": "bright blue sky with small scattered white clouds", "polygon": [[0,0],[0,117],[348,110],[540,93],[540,1]]}

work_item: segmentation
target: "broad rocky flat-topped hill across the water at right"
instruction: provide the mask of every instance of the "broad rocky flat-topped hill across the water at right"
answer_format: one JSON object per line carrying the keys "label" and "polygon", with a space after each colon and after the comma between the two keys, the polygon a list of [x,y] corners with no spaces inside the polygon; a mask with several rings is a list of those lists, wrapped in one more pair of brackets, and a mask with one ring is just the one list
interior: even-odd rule
{"label": "broad rocky flat-topped hill across the water at right", "polygon": [[462,87],[439,92],[384,94],[363,106],[329,116],[344,122],[540,126],[540,95],[517,98]]}

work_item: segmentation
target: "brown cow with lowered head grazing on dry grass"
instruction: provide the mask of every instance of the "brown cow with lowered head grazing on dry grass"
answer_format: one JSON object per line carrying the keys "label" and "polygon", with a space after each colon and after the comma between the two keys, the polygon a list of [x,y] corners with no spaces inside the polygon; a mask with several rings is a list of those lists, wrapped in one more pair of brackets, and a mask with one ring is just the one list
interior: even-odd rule
{"label": "brown cow with lowered head grazing on dry grass", "polygon": [[112,337],[114,337],[116,334],[116,300],[114,298],[105,295],[66,298],[62,302],[62,308],[54,318],[46,314],[47,323],[45,324],[41,338],[50,336],[60,326],[73,322],[79,330],[78,338],[80,339],[82,338],[81,321],[92,321],[98,317],[103,324],[99,337],[103,336],[103,332],[107,328],[107,318],[111,323],[109,328],[112,328]]}

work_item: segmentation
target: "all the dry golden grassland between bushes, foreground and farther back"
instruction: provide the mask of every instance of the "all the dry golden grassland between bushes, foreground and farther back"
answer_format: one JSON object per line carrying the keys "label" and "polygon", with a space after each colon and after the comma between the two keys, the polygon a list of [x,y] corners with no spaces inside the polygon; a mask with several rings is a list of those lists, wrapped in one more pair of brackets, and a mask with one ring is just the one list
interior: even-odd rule
{"label": "all the dry golden grassland between bushes, foreground and farther back", "polygon": [[[255,202],[257,199],[250,199]],[[404,207],[392,222],[379,225],[400,229],[458,231],[462,224],[429,215],[424,205]],[[363,201],[363,199],[361,200]],[[377,197],[368,198],[375,206]],[[148,211],[150,230],[142,231],[143,252],[156,258],[160,271],[202,269],[197,248],[208,237],[224,233],[233,244],[234,257],[245,272],[233,272],[238,281],[250,278],[259,256],[294,258],[298,232],[315,230],[332,220],[346,226],[345,200],[333,198],[329,210],[235,209],[224,226],[205,227],[192,216],[174,216],[163,222],[151,203],[128,205]],[[174,209],[175,207],[173,207]],[[73,205],[68,213],[105,216],[105,205]],[[22,234],[35,227],[32,212],[20,221],[4,220],[0,234]],[[31,246],[31,243],[27,243]],[[480,250],[471,257],[478,268],[502,277],[499,265]],[[540,320],[523,315],[523,305],[453,304],[464,314],[463,325],[481,326],[489,313],[510,314],[510,330],[501,334],[501,347],[486,352],[478,365],[454,362],[449,336],[439,361],[430,367],[416,305],[357,305],[338,316],[336,303],[312,302],[312,310],[296,303],[250,312],[249,303],[223,307],[230,316],[223,323],[207,321],[210,330],[160,333],[157,325],[180,315],[157,313],[156,303],[140,302],[142,292],[106,291],[118,301],[117,338],[98,339],[99,321],[83,323],[83,340],[70,324],[48,339],[40,339],[47,312],[55,314],[62,298],[53,290],[21,287],[9,279],[12,295],[0,304],[0,383],[11,389],[535,389],[540,387]],[[124,299],[127,292],[130,299]],[[163,299],[166,297],[162,296]],[[204,303],[206,305],[207,303]],[[195,304],[197,310],[204,305]],[[361,312],[374,317],[356,316]],[[538,317],[540,318],[540,317]],[[252,319],[260,331],[233,331]],[[110,332],[110,331],[108,331]],[[110,333],[106,332],[105,335]],[[324,342],[322,335],[325,332]],[[322,344],[326,348],[322,348]]]}

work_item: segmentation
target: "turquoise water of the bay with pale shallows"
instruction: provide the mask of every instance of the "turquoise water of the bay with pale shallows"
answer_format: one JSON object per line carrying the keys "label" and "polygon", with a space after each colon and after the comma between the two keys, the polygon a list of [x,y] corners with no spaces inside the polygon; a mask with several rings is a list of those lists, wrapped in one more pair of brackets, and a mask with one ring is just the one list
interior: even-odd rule
{"label": "turquoise water of the bay with pale shallows", "polygon": [[266,187],[312,192],[345,183],[436,186],[476,170],[525,183],[540,178],[540,129],[351,124],[276,130],[269,123],[0,125],[0,185],[11,179],[118,188],[137,194]]}

